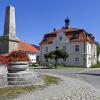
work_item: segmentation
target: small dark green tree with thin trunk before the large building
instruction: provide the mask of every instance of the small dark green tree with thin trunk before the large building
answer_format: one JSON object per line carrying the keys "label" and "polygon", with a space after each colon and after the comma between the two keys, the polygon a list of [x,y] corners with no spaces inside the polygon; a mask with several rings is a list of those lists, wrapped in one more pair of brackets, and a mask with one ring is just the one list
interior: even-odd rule
{"label": "small dark green tree with thin trunk before the large building", "polygon": [[68,53],[64,50],[55,50],[55,51],[51,51],[47,54],[44,54],[45,58],[49,58],[49,59],[55,59],[55,68],[57,68],[57,63],[58,63],[58,59],[66,59],[68,58]]}

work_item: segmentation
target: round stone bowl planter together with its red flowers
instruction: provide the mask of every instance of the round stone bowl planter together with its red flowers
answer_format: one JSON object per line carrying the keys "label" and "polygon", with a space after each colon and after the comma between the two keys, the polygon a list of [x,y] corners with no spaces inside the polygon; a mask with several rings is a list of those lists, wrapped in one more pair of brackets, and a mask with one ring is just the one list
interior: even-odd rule
{"label": "round stone bowl planter together with its red flowers", "polygon": [[24,71],[28,68],[29,57],[24,51],[13,51],[8,55],[8,72]]}

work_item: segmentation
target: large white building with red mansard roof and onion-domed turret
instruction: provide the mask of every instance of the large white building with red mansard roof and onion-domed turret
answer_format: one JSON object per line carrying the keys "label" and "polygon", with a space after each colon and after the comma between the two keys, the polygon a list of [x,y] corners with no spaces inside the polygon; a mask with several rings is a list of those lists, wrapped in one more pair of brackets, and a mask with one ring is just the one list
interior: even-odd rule
{"label": "large white building with red mansard roof and onion-domed turret", "polygon": [[84,29],[69,28],[69,19],[65,20],[65,27],[45,34],[40,43],[41,62],[44,64],[55,63],[54,59],[44,57],[50,51],[64,49],[68,53],[67,59],[59,59],[59,63],[69,66],[83,66],[89,68],[97,63],[97,47],[94,36]]}

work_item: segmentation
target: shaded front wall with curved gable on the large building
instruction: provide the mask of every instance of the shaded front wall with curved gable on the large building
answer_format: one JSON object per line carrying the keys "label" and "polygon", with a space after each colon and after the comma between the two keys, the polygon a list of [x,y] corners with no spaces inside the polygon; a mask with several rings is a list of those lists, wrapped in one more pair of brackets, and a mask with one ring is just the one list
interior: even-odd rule
{"label": "shaded front wall with curved gable on the large building", "polygon": [[[62,37],[62,40],[60,40],[60,36]],[[75,46],[79,45],[79,51],[75,51]],[[59,63],[64,63],[66,65],[70,66],[84,66],[84,43],[83,42],[70,42],[69,39],[65,36],[65,33],[58,33],[57,37],[53,40],[52,44],[47,44],[42,46],[42,62],[45,62],[44,54],[45,48],[48,47],[48,52],[53,51],[56,49],[56,47],[59,47],[59,49],[63,49],[63,47],[66,46],[66,52],[68,53],[69,57],[64,61],[63,59],[59,59]],[[78,62],[75,62],[75,59],[79,58]],[[47,63],[54,63],[54,59],[49,59],[49,62]]]}

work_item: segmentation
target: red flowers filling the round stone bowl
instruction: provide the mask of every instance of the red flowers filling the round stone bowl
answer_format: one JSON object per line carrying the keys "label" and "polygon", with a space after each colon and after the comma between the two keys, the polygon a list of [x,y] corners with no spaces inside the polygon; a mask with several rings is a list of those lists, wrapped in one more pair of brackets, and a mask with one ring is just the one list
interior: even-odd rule
{"label": "red flowers filling the round stone bowl", "polygon": [[24,51],[13,51],[8,55],[10,62],[29,61],[28,55]]}

